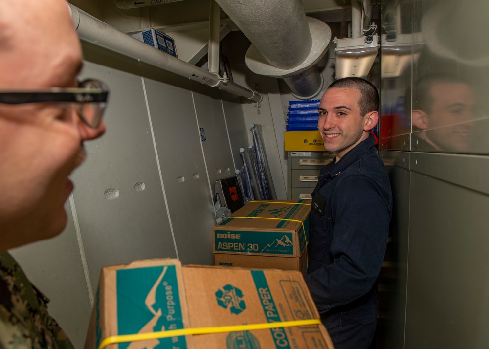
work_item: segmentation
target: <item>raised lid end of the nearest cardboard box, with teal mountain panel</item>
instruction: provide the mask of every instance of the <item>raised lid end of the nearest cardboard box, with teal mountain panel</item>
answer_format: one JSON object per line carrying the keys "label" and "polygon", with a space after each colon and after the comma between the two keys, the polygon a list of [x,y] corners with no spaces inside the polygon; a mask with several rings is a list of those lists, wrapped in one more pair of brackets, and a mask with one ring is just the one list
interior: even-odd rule
{"label": "raised lid end of the nearest cardboard box, with teal mountain panel", "polygon": [[[107,337],[190,327],[181,263],[175,259],[136,261],[102,268],[85,340],[98,349]],[[108,348],[193,348],[187,337],[121,343]],[[173,346],[173,347],[172,347]]]}

